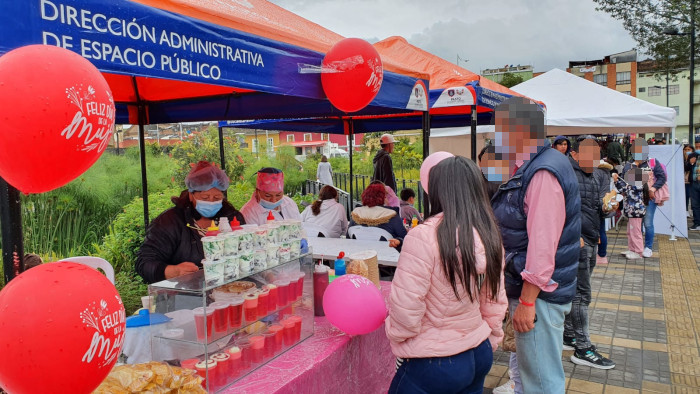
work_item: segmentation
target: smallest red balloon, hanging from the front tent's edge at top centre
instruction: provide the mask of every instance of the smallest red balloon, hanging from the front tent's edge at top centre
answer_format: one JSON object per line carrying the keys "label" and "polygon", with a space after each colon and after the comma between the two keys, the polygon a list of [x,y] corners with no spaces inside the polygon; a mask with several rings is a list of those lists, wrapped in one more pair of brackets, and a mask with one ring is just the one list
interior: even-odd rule
{"label": "smallest red balloon, hanging from the front tent's edge at top centre", "polygon": [[365,40],[346,38],[333,45],[323,58],[323,91],[341,111],[366,107],[379,92],[383,79],[382,59]]}

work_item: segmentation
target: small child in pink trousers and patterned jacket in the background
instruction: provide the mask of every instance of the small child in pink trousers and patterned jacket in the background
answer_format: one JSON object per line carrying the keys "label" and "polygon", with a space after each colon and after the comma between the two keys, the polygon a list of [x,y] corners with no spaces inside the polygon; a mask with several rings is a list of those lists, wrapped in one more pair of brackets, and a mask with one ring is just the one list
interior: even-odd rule
{"label": "small child in pink trousers and patterned jacket in the background", "polygon": [[622,255],[628,259],[640,259],[644,250],[644,238],[642,237],[642,221],[646,213],[644,204],[644,185],[647,183],[648,174],[639,168],[632,168],[625,174],[622,180],[617,174],[613,174],[615,187],[625,196],[623,212],[627,216],[627,246],[628,251]]}

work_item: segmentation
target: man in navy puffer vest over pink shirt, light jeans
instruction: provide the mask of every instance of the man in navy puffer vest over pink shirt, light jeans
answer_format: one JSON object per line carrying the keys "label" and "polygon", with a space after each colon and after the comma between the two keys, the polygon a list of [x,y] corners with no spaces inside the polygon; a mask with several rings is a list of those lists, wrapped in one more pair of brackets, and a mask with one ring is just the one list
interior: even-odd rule
{"label": "man in navy puffer vest over pink shirt, light jeans", "polygon": [[549,148],[544,114],[530,100],[512,97],[498,105],[495,127],[496,148],[513,171],[491,202],[506,251],[520,375],[515,390],[563,393],[564,316],[576,294],[581,249],[578,182],[568,158]]}

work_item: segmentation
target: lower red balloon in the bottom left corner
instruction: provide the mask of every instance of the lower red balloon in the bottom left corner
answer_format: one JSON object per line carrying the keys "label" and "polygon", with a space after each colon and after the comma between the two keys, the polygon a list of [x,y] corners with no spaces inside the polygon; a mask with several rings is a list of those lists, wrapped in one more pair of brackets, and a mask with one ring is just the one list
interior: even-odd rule
{"label": "lower red balloon in the bottom left corner", "polygon": [[0,387],[9,393],[90,393],[116,363],[126,316],[97,270],[42,264],[0,291]]}

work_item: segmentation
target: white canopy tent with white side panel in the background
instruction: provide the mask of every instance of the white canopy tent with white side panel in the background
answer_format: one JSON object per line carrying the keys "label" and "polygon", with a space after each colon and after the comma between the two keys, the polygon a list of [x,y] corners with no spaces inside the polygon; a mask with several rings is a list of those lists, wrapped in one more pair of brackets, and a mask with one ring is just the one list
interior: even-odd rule
{"label": "white canopy tent with white side panel in the background", "polygon": [[[512,87],[512,90],[547,107],[547,134],[675,134],[676,111],[617,92],[576,75],[553,69]],[[479,126],[481,149],[486,138],[493,136],[493,126]],[[468,156],[469,128],[431,130],[431,152],[445,150]],[[675,135],[671,138],[675,141]],[[666,165],[671,201],[660,207],[654,217],[660,234],[687,236],[684,205],[683,163],[680,146],[654,147],[651,156]]]}

